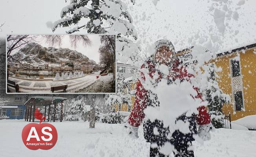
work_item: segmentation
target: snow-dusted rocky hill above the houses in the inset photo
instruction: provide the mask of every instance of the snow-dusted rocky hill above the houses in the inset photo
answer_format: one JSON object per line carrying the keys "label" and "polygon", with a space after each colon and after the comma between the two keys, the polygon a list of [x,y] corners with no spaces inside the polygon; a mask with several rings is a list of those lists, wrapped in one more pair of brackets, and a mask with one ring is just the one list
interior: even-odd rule
{"label": "snow-dusted rocky hill above the houses in the inset photo", "polygon": [[[96,64],[94,60],[89,59],[80,52],[68,49],[68,48],[54,48],[54,47],[42,47],[41,45],[32,42],[21,48],[13,58],[20,62],[33,63],[60,63],[60,61],[80,62],[82,64]],[[11,60],[10,60],[11,61]]]}

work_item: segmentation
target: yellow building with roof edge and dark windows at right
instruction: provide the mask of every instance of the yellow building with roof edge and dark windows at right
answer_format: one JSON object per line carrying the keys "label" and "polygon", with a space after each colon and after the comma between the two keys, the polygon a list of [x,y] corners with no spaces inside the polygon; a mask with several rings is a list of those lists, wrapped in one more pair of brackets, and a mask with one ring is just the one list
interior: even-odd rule
{"label": "yellow building with roof edge and dark windows at right", "polygon": [[[190,54],[192,48],[178,51],[177,56]],[[223,105],[224,115],[231,114],[231,120],[256,115],[256,43],[219,53],[209,63],[222,69],[214,76],[219,76],[215,78],[219,87],[231,97]]]}

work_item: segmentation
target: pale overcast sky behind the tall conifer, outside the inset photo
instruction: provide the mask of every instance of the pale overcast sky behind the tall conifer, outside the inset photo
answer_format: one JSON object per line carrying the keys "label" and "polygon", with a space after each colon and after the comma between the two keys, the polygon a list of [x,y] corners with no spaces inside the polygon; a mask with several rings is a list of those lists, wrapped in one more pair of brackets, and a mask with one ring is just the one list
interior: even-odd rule
{"label": "pale overcast sky behind the tall conifer, outside the inset photo", "polygon": [[[138,39],[142,47],[147,47],[148,44],[165,38],[171,40],[178,51],[193,46],[193,41],[199,40],[200,33],[211,38],[213,32],[218,31],[209,8],[212,3],[225,0],[159,0],[154,5],[153,2],[157,1],[138,0],[135,5],[128,7]],[[240,1],[243,0],[228,0],[228,7],[236,10],[239,18],[225,19],[227,30],[219,37],[221,45],[217,51],[227,51],[256,42],[256,0],[245,0],[245,4],[238,5]],[[52,33],[46,23],[59,20],[61,9],[68,4],[69,1],[65,3],[65,0],[1,1],[0,23],[5,24],[0,33],[2,36],[9,33]],[[71,28],[73,27],[58,28],[55,33],[65,33]],[[194,37],[192,42],[188,41],[191,37]]]}

